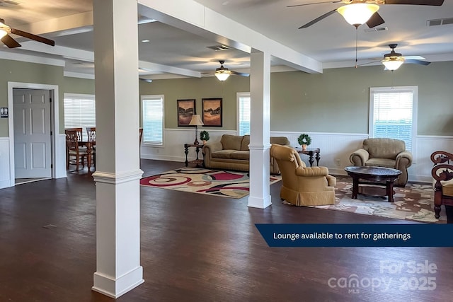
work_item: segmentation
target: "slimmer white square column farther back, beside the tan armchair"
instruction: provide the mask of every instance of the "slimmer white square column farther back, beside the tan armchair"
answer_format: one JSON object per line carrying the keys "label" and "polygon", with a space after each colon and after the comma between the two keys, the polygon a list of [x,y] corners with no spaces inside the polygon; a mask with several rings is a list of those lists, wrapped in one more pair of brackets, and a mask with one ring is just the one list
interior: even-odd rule
{"label": "slimmer white square column farther back, beside the tan armchair", "polygon": [[270,54],[251,53],[250,196],[248,207],[265,209],[270,200]]}

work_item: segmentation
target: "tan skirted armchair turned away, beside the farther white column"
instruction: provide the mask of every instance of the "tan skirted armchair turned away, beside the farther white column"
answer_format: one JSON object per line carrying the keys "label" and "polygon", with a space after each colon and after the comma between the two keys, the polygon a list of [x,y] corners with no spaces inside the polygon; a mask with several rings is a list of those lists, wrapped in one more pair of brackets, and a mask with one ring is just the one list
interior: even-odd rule
{"label": "tan skirted armchair turned away, beside the farther white column", "polygon": [[272,144],[270,156],[275,158],[282,174],[282,200],[296,206],[335,204],[336,178],[328,175],[328,168],[306,167],[290,146]]}

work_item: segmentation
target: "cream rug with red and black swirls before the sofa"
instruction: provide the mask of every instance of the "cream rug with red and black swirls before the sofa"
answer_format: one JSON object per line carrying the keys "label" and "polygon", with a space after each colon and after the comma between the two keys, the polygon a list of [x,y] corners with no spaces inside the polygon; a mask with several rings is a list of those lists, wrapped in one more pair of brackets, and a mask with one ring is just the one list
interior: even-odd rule
{"label": "cream rug with red and black swirls before the sofa", "polygon": [[[242,198],[249,193],[247,172],[180,168],[140,180],[140,185],[159,187],[198,194]],[[280,181],[280,176],[270,176],[270,184]]]}

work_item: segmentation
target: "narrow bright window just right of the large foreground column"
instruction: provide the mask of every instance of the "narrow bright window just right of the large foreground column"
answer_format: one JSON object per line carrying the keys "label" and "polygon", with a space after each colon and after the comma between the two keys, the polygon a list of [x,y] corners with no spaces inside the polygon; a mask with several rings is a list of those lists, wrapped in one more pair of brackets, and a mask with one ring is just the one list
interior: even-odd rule
{"label": "narrow bright window just right of the large foreground column", "polygon": [[142,95],[143,143],[164,144],[164,95]]}

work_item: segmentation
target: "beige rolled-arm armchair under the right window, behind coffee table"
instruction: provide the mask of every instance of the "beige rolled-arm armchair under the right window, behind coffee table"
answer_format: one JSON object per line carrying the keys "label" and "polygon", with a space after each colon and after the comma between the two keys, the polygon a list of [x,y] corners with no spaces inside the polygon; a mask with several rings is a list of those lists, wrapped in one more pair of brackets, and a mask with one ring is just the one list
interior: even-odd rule
{"label": "beige rolled-arm armchair under the right window, behind coffee table", "polygon": [[412,165],[412,153],[399,139],[372,138],[363,141],[362,149],[350,155],[353,165],[394,168],[401,171],[395,181],[396,187],[404,187],[408,182],[408,168]]}

